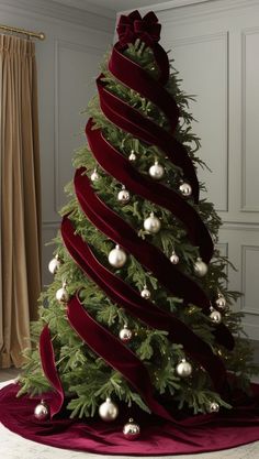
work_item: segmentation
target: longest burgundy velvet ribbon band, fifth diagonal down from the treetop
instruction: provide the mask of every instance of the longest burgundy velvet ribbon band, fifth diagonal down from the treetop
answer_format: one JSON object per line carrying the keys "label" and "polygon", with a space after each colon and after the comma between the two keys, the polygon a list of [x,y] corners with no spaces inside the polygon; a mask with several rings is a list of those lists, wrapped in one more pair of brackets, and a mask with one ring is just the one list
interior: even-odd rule
{"label": "longest burgundy velvet ribbon band, fifth diagonal down from the treetop", "polygon": [[224,393],[226,387],[226,372],[223,362],[216,357],[209,345],[199,338],[184,323],[172,314],[159,308],[139,293],[105,269],[93,255],[89,245],[82,241],[68,217],[61,222],[64,243],[80,269],[117,304],[137,317],[146,325],[168,331],[171,342],[181,343],[184,351],[196,360],[210,374],[215,390]]}

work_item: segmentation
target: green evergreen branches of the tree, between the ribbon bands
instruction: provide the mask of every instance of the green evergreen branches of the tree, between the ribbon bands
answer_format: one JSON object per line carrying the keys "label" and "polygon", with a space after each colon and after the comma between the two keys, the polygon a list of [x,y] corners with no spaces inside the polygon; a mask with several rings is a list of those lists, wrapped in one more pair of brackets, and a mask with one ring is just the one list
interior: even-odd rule
{"label": "green evergreen branches of the tree, between the ribbon bands", "polygon": [[[158,68],[153,52],[150,48],[145,47],[144,43],[137,40],[135,44],[128,45],[125,53],[128,58],[137,62],[155,79],[158,77]],[[157,124],[169,130],[165,114],[139,94],[119,83],[108,70],[106,63],[108,56],[101,68],[106,88]],[[170,78],[166,88],[173,96],[180,108],[180,123],[176,131],[176,138],[188,149],[195,167],[205,167],[198,154],[200,139],[191,130],[193,117],[189,111],[189,101],[193,99],[193,96],[184,94],[180,83],[178,72],[173,68],[171,62]],[[181,170],[171,164],[158,147],[147,145],[112,124],[101,111],[98,97],[90,101],[88,114],[93,118],[95,127],[101,128],[109,142],[125,157],[128,157],[132,150],[135,152],[137,159],[134,166],[142,174],[146,175],[155,160],[159,160],[159,163],[166,170],[161,182],[172,189],[178,189],[176,184],[179,183],[181,177]],[[80,166],[87,167],[89,176],[97,167],[88,145],[83,145],[76,152],[74,166],[76,168]],[[98,173],[100,179],[93,184],[98,196],[135,228],[139,237],[143,239],[148,238],[168,258],[170,258],[174,249],[180,258],[179,269],[183,273],[193,276],[193,264],[199,256],[199,250],[190,243],[181,221],[176,219],[168,210],[136,195],[132,196],[128,204],[122,206],[116,197],[121,189],[121,184],[100,168],[98,168]],[[200,187],[204,189],[203,184],[200,184]],[[108,254],[114,248],[113,242],[108,240],[104,234],[87,220],[79,207],[71,183],[67,185],[66,193],[69,199],[61,209],[60,215],[70,212],[69,218],[72,220],[77,233],[88,242],[98,260],[111,270],[108,263]],[[192,199],[189,199],[189,203],[195,207],[209,228],[214,242],[216,242],[221,219],[216,215],[213,204],[204,198],[200,199],[199,205],[194,205]],[[151,211],[162,222],[161,230],[154,236],[148,234],[143,229],[143,221]],[[134,332],[134,337],[127,346],[145,363],[158,394],[161,396],[170,395],[179,409],[188,407],[194,414],[206,412],[207,404],[211,401],[217,402],[223,407],[230,407],[213,391],[210,378],[195,361],[191,362],[193,367],[192,376],[184,380],[180,379],[176,372],[176,367],[185,357],[182,346],[171,343],[167,339],[166,331],[146,327],[108,298],[71,260],[63,244],[60,234],[57,234],[53,242],[55,244],[54,253],[58,254],[63,263],[55,274],[53,283],[42,293],[40,298],[40,319],[37,323],[32,324],[32,337],[35,346],[32,351],[26,352],[26,363],[20,378],[20,394],[41,394],[50,389],[42,371],[37,345],[43,326],[48,324],[57,370],[66,395],[69,398],[67,408],[70,409],[71,417],[93,416],[106,396],[111,396],[115,401],[122,401],[128,406],[137,404],[140,408],[148,412],[148,407],[140,396],[133,391],[123,376],[110,368],[101,358],[97,358],[69,326],[66,319],[66,306],[58,303],[55,296],[63,281],[66,281],[69,294],[74,295],[80,288],[80,299],[87,310],[115,336],[119,336],[120,330],[127,323],[128,328]],[[159,307],[173,313],[176,317],[191,327],[199,337],[212,347],[214,353],[222,357],[226,368],[238,375],[240,386],[247,389],[249,378],[256,372],[256,369],[251,361],[250,346],[243,332],[241,314],[234,313],[230,309],[239,294],[227,289],[226,267],[228,265],[227,259],[222,256],[216,249],[207,275],[199,280],[198,283],[210,296],[212,296],[212,293],[216,295],[221,291],[227,300],[227,308],[223,313],[223,321],[235,335],[236,347],[232,352],[227,352],[215,342],[212,332],[213,325],[198,306],[189,304],[187,307],[183,307],[182,299],[168,294],[153,274],[146,272],[134,256],[128,255],[127,263],[114,272],[139,292],[146,284],[151,292],[151,300]],[[189,357],[188,360],[190,361]]]}

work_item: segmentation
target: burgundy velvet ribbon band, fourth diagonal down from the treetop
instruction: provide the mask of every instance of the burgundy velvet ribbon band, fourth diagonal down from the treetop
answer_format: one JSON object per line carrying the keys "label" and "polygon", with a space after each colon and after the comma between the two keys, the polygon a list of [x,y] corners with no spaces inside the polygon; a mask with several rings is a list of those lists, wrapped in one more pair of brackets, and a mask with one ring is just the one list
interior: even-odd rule
{"label": "burgundy velvet ribbon band, fourth diagonal down from the treetop", "polygon": [[87,175],[75,175],[78,200],[88,219],[108,238],[133,254],[173,295],[210,310],[210,299],[187,274],[181,273],[154,244],[140,239],[136,231],[111,210],[93,192]]}

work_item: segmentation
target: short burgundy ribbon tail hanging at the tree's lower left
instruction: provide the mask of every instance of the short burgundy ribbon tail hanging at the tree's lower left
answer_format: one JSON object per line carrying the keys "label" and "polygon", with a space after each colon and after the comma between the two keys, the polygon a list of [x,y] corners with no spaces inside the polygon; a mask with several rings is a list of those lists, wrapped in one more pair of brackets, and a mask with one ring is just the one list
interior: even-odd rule
{"label": "short burgundy ribbon tail hanging at the tree's lower left", "polygon": [[50,417],[53,417],[61,409],[65,395],[61,381],[56,369],[55,354],[47,325],[43,328],[40,337],[40,354],[44,374],[49,381],[52,387],[55,389],[55,395],[52,397],[52,403],[49,404]]}

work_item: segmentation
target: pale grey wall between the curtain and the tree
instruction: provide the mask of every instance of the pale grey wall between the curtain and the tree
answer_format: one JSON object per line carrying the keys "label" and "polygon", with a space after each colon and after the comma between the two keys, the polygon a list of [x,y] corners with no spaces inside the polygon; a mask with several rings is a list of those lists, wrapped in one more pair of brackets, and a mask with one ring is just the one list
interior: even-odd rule
{"label": "pale grey wall between the curtain and the tree", "polygon": [[112,43],[114,20],[49,1],[0,1],[0,22],[46,33],[36,41],[43,201],[43,283],[56,236],[64,185],[72,178],[74,150],[85,142],[87,114],[99,63]]}

